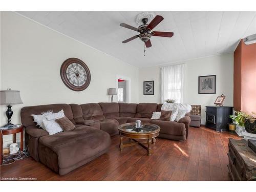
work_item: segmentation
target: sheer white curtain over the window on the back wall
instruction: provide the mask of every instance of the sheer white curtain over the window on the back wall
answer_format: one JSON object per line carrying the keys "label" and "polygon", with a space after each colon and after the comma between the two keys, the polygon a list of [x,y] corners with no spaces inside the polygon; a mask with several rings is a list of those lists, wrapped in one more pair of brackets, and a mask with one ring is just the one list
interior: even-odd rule
{"label": "sheer white curtain over the window on the back wall", "polygon": [[175,99],[183,102],[185,64],[161,67],[161,102]]}

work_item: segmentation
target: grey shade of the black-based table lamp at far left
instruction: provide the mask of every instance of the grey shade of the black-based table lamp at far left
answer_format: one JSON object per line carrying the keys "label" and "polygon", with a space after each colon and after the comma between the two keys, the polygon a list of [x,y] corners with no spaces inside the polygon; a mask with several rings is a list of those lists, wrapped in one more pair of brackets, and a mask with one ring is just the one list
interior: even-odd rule
{"label": "grey shade of the black-based table lamp at far left", "polygon": [[6,90],[0,91],[0,105],[6,104],[22,104],[19,91]]}

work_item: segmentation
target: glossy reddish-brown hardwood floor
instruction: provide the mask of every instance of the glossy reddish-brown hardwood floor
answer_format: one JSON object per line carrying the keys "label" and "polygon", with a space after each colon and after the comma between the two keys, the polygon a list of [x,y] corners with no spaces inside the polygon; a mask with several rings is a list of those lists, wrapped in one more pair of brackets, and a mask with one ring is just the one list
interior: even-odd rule
{"label": "glossy reddish-brown hardwood floor", "polygon": [[119,136],[112,137],[110,151],[65,176],[59,176],[31,157],[1,166],[2,178],[81,181],[223,181],[228,178],[229,132],[190,127],[186,141],[157,138],[152,156],[141,146],[119,151]]}

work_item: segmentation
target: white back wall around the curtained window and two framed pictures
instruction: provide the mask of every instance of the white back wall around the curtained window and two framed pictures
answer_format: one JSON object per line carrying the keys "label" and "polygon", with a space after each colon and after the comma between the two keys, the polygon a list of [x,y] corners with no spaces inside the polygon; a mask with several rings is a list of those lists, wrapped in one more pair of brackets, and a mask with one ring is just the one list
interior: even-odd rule
{"label": "white back wall around the curtained window and two framed pictures", "polygon": [[[202,105],[202,124],[205,106],[214,105],[217,96],[226,96],[224,105],[233,106],[233,53],[184,61],[186,75],[184,103]],[[172,65],[176,65],[173,63]],[[198,77],[216,75],[216,94],[198,94]],[[155,81],[155,95],[143,95],[143,81]],[[160,67],[139,69],[139,102],[160,102]]]}

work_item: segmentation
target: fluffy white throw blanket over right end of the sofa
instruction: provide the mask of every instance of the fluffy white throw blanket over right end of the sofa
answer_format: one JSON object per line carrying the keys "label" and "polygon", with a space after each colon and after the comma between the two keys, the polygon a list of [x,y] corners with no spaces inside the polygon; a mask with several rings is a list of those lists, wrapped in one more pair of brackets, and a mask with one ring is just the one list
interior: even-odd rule
{"label": "fluffy white throw blanket over right end of the sofa", "polygon": [[185,117],[186,113],[189,113],[191,109],[191,105],[185,103],[163,103],[161,108],[161,110],[164,111],[178,111],[177,116],[175,117],[176,121]]}

